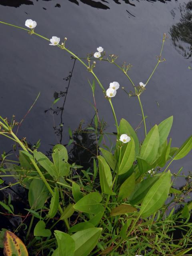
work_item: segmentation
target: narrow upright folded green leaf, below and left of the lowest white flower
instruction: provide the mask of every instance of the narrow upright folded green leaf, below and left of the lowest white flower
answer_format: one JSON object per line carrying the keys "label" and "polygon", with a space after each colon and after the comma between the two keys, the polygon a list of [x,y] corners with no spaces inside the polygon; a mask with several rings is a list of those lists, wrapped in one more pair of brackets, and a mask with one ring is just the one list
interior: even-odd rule
{"label": "narrow upright folded green leaf, below and left of the lowest white flower", "polygon": [[103,156],[98,156],[99,161],[99,178],[102,193],[112,195],[112,174]]}

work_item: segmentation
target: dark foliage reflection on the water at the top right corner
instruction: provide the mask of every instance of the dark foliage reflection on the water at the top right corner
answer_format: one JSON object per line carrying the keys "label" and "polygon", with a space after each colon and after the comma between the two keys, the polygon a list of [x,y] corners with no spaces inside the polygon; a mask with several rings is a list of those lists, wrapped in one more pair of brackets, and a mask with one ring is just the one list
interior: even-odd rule
{"label": "dark foliage reflection on the water at the top right corner", "polygon": [[180,22],[170,28],[170,35],[176,50],[188,59],[192,56],[192,1],[180,4],[180,14]]}

